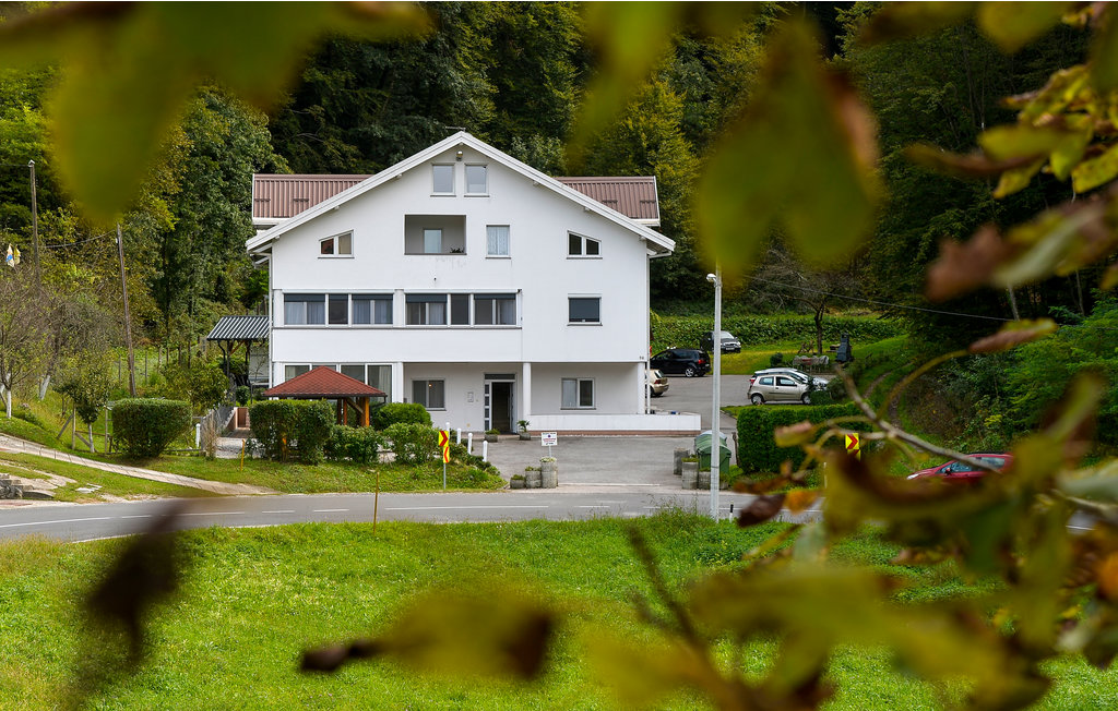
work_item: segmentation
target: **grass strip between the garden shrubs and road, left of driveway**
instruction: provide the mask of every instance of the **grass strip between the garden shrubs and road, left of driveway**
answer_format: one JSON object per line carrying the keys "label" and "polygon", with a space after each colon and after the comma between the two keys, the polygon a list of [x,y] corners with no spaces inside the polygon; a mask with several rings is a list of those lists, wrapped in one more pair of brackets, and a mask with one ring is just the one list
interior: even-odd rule
{"label": "grass strip between the garden shrubs and road, left of driveway", "polygon": [[[97,459],[122,464],[135,464],[155,471],[267,487],[284,493],[323,493],[375,491],[377,471],[380,472],[381,491],[430,491],[443,489],[442,461],[408,465],[379,464],[360,467],[350,463],[321,462],[300,464],[297,462],[273,462],[262,459],[246,459],[244,469],[239,459],[207,460],[202,457],[163,455],[150,460],[130,460],[123,457],[98,457]],[[446,487],[454,490],[492,490],[504,487],[499,474],[452,461],[446,469]]]}

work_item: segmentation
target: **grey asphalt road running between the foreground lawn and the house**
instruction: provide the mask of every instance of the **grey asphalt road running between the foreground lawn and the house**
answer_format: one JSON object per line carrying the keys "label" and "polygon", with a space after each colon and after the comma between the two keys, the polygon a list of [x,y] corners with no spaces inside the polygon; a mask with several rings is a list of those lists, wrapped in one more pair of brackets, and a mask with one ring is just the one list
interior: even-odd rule
{"label": "grey asphalt road running between the foreground lawn and the house", "polygon": [[[720,516],[754,497],[722,491]],[[42,536],[65,541],[113,538],[141,532],[179,502],[186,509],[174,528],[211,526],[241,528],[300,522],[370,522],[373,494],[328,493],[220,499],[149,500],[122,503],[28,505],[0,512],[0,539]],[[503,491],[492,493],[382,493],[377,503],[380,521],[584,520],[599,517],[634,518],[667,509],[698,513],[710,511],[705,491],[633,492]]]}

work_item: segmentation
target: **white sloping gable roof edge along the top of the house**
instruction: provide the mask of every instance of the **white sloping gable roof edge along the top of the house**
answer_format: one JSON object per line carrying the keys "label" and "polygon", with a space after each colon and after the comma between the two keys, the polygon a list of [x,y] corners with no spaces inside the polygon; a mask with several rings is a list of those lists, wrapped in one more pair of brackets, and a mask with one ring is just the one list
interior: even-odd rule
{"label": "white sloping gable roof edge along the top of the house", "polygon": [[616,210],[607,208],[597,200],[588,198],[587,195],[584,195],[582,193],[578,192],[572,188],[563,185],[558,180],[544,175],[534,167],[521,163],[511,155],[498,151],[487,143],[480,141],[465,132],[458,132],[453,136],[439,141],[435,145],[429,146],[420,151],[419,153],[416,153],[415,155],[400,161],[396,165],[382,170],[376,175],[369,177],[368,180],[364,180],[353,185],[352,188],[343,190],[342,192],[335,194],[332,198],[323,200],[322,202],[311,208],[310,210],[304,210],[303,212],[296,214],[295,217],[281,222],[276,227],[266,230],[264,232],[257,233],[255,237],[248,239],[245,242],[245,246],[249,252],[262,251],[273,241],[281,238],[283,234],[290,232],[291,230],[294,230],[301,224],[310,222],[318,215],[323,214],[330,210],[333,210],[334,208],[340,206],[345,202],[349,202],[353,198],[362,195],[369,192],[370,190],[376,189],[380,184],[386,183],[398,175],[402,175],[407,171],[417,167],[419,165],[423,165],[424,163],[434,158],[435,156],[438,156],[439,154],[449,151],[451,148],[454,148],[456,146],[467,146],[470,148],[473,148],[474,151],[477,151],[479,153],[483,153],[487,155],[490,158],[495,160],[499,163],[502,163],[506,167],[531,180],[533,184],[546,188],[559,195],[567,198],[568,200],[571,200],[572,202],[580,204],[587,212],[597,213],[603,218],[609,220],[610,222],[614,222],[627,230],[631,230],[632,232],[642,237],[647,243],[648,249],[654,252],[667,253],[675,248],[675,242],[667,239],[660,232],[656,232],[655,230],[647,228],[625,217],[624,214],[622,214]]}

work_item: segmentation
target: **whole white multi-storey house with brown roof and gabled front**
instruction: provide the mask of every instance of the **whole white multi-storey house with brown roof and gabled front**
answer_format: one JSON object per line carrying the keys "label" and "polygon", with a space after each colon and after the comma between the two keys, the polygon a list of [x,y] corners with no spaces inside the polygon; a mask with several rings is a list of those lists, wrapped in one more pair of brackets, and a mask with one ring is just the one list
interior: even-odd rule
{"label": "whole white multi-storey house with brown roof and gabled front", "polygon": [[255,176],[269,384],[329,365],[467,431],[698,431],[650,414],[654,179],[561,180],[467,133],[371,176]]}

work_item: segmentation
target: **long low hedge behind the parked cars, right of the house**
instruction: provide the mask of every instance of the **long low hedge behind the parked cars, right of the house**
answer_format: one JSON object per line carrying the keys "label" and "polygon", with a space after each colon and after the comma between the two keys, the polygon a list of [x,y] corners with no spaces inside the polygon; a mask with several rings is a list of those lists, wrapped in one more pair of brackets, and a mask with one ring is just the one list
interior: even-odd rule
{"label": "long low hedge behind the parked cars, right of the house", "polygon": [[[661,316],[653,319],[653,353],[679,346],[699,347],[704,332],[710,332],[713,317],[707,316]],[[742,346],[764,345],[781,340],[811,340],[815,343],[815,319],[803,316],[729,316],[722,318],[722,329],[741,340]],[[837,343],[842,334],[850,334],[858,355],[859,342],[872,343],[903,334],[901,325],[894,320],[865,316],[826,316],[823,319],[824,347]]]}

